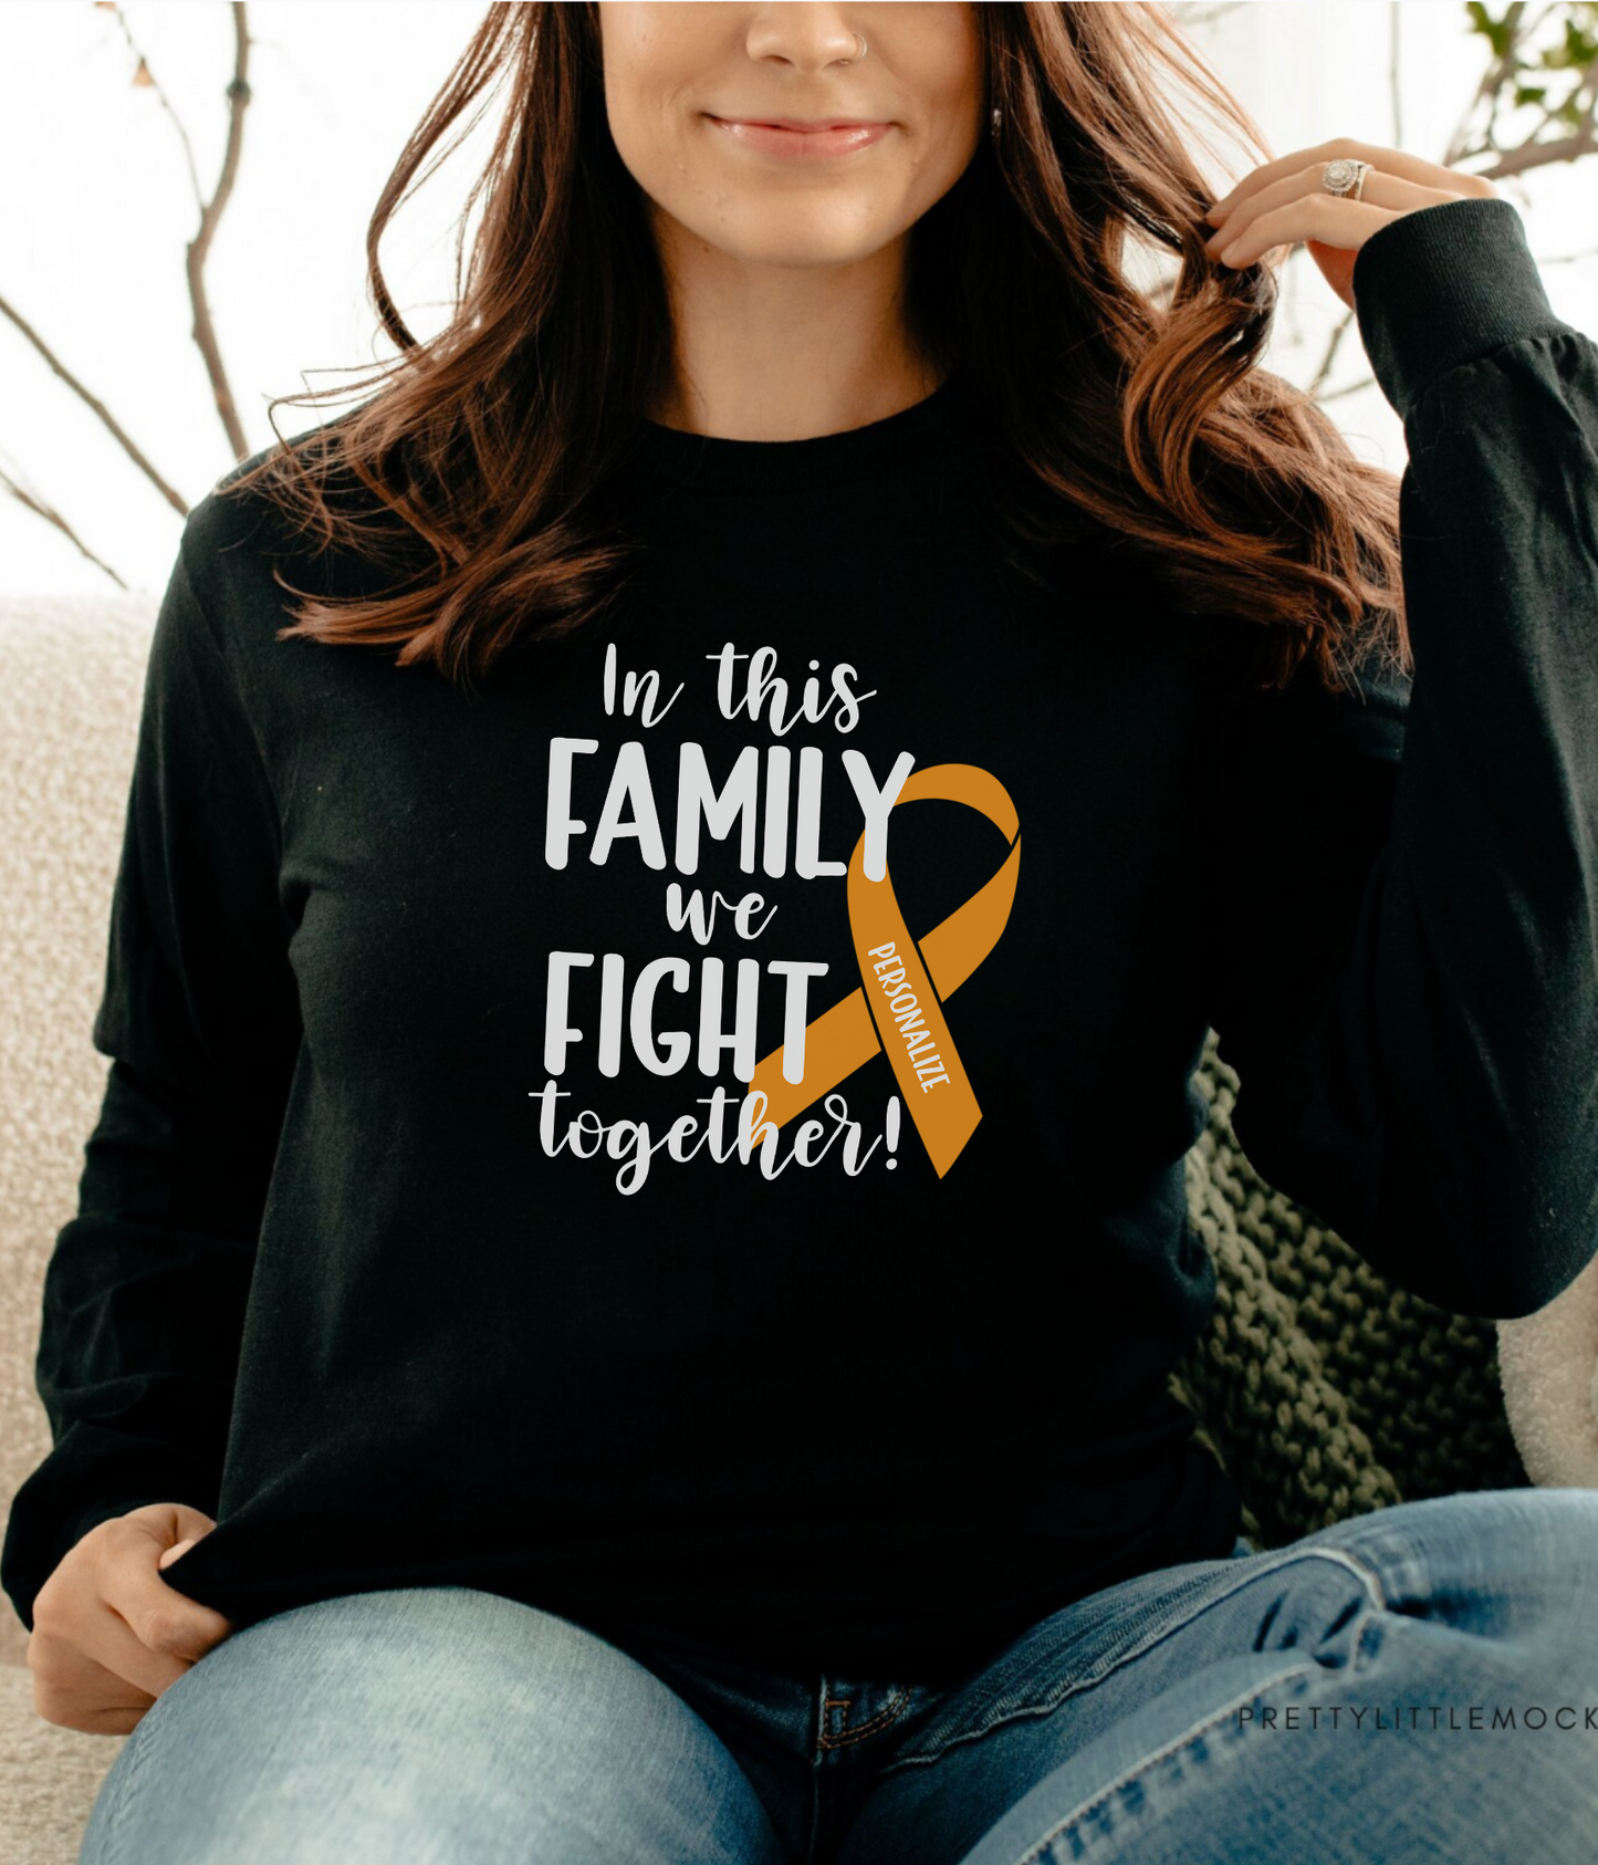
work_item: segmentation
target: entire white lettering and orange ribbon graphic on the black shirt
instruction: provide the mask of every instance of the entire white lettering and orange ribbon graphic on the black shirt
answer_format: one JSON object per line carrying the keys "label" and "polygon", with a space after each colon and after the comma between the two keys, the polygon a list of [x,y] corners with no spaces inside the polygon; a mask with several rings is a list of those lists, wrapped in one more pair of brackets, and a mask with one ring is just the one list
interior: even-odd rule
{"label": "entire white lettering and orange ribbon graphic on the black shirt", "polygon": [[[792,725],[832,720],[839,733],[860,722],[860,707],[875,698],[854,688],[856,670],[832,670],[826,698],[811,671],[798,703],[791,705],[789,681],[776,673],[776,649],[738,651],[727,642],[707,660],[714,671],[716,705],[723,720],[746,718],[781,739]],[[819,664],[809,662],[811,670]],[[686,683],[664,703],[656,671],[627,673],[619,679],[615,643],[604,656],[604,711],[636,722],[641,731],[658,731]],[[617,686],[621,690],[617,690]],[[841,906],[848,914],[848,934],[858,983],[833,981],[830,964],[755,957],[737,960],[733,983],[733,1029],[723,1022],[725,964],[720,957],[699,960],[699,1037],[686,1029],[656,1031],[656,994],[662,987],[686,994],[692,988],[690,960],[668,955],[649,960],[625,988],[621,953],[550,951],[544,988],[544,1071],[543,1089],[531,1091],[541,1102],[539,1132],[543,1149],[554,1156],[571,1149],[578,1156],[623,1160],[617,1188],[640,1190],[651,1156],[686,1160],[701,1149],[718,1162],[750,1164],[759,1149],[766,1177],[787,1164],[820,1164],[841,1138],[839,1158],[850,1175],[884,1145],[884,1166],[893,1167],[899,1145],[901,1104],[908,1108],[921,1145],[942,1179],[958,1160],[983,1117],[979,1084],[971,1082],[958,1043],[944,1013],[947,1000],[988,957],[1003,934],[1020,871],[1020,824],[1005,787],[975,765],[932,765],[916,770],[910,752],[901,752],[889,770],[873,770],[856,748],[841,753],[843,768],[861,809],[861,830],[848,862],[819,856],[819,798],[824,753],[819,746],[800,746],[798,757],[781,742],[746,744],[720,787],[709,768],[703,744],[681,739],[677,752],[677,796],[671,847],[660,821],[651,765],[643,739],[628,739],[615,752],[604,806],[593,830],[572,813],[572,785],[578,761],[600,755],[600,740],[554,737],[548,744],[548,804],[544,819],[544,862],[565,869],[578,837],[589,837],[587,858],[606,862],[617,843],[636,843],[638,856],[653,869],[675,869],[694,877],[699,871],[701,836],[718,841],[738,837],[744,873],[755,871],[779,880],[789,873],[789,817],[792,808],[792,878],[798,882],[843,878]],[[893,891],[888,865],[888,830],[895,808],[925,798],[964,804],[985,815],[1009,843],[1009,852],[964,905],[936,927],[912,936]],[[759,841],[759,862],[757,862]],[[681,880],[671,880],[664,895],[666,923],[671,931],[692,932],[697,944],[712,936],[716,916],[727,912],[744,940],[757,940],[770,925],[776,905],[766,906],[759,891],[727,899],[712,890],[707,901],[696,888],[684,897]],[[763,918],[761,918],[763,916]],[[682,1113],[662,1136],[645,1123],[604,1121],[595,1110],[576,1115],[559,1112],[565,1093],[559,1078],[572,1048],[585,1041],[572,1028],[572,972],[600,966],[599,1065],[606,1076],[623,1074],[623,1020],[630,1057],[651,1074],[697,1072],[714,1078],[723,1072],[723,1054],[731,1050],[731,1072],[746,1084],[735,1098],[716,1087],[696,1104],[703,1113]],[[766,1056],[755,1056],[755,1003],[761,975],[779,977],[785,987],[783,1039]],[[861,1151],[861,1123],[848,1117],[848,1104],[837,1093],[856,1071],[886,1054],[899,1093],[884,1110],[884,1130]],[[694,1069],[697,1065],[697,1069]],[[817,1104],[826,1113],[819,1117]],[[731,1121],[729,1121],[731,1113]],[[731,1134],[729,1134],[731,1126]],[[787,1141],[787,1154],[781,1145]]]}

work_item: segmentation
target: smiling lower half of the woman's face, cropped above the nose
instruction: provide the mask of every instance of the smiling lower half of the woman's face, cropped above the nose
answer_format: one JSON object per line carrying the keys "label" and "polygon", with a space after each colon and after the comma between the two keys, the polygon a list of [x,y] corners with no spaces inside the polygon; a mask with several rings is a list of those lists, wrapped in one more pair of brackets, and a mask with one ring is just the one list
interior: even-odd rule
{"label": "smiling lower half of the woman's face, cropped above the nose", "polygon": [[[968,4],[600,0],[599,21],[610,131],[656,229],[677,222],[727,257],[876,252],[958,181],[983,131]],[[841,63],[856,34],[865,56]]]}

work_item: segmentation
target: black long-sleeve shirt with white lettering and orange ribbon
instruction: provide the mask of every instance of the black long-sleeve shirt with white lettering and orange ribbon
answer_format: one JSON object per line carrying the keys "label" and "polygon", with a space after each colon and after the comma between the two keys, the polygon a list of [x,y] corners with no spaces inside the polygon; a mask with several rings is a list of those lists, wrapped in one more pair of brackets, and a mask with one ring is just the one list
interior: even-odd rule
{"label": "black long-sleeve shirt with white lettering and orange ribbon", "polygon": [[[936,1677],[1229,1552],[1192,1074],[1378,1268],[1598,1250],[1598,347],[1503,200],[1382,228],[1413,679],[1240,692],[1108,546],[979,522],[958,382],[645,425],[643,565],[475,692],[282,642],[192,515],[149,658],[26,1624],[145,1501],[239,1623],[418,1582]],[[1024,845],[1024,847],[1022,847]]]}

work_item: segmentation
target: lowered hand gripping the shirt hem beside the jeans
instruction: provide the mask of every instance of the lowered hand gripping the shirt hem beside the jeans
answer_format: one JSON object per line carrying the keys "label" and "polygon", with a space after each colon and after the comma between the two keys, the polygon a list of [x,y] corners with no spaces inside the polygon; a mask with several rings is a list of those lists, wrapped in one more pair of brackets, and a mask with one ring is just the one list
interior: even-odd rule
{"label": "lowered hand gripping the shirt hem beside the jeans", "polygon": [[145,1503],[91,1527],[34,1600],[28,1669],[47,1723],[127,1734],[231,1621],[170,1587],[160,1570],[216,1524],[186,1503]]}

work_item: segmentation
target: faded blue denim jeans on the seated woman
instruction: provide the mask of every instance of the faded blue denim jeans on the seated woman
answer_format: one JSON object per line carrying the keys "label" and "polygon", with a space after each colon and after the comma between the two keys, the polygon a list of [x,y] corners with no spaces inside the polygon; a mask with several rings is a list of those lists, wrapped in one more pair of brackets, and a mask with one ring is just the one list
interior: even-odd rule
{"label": "faded blue denim jeans on the seated woman", "polygon": [[1598,1490],[1402,1503],[1040,1619],[970,1677],[625,1651],[470,1587],[235,1632],[80,1865],[1598,1858]]}

